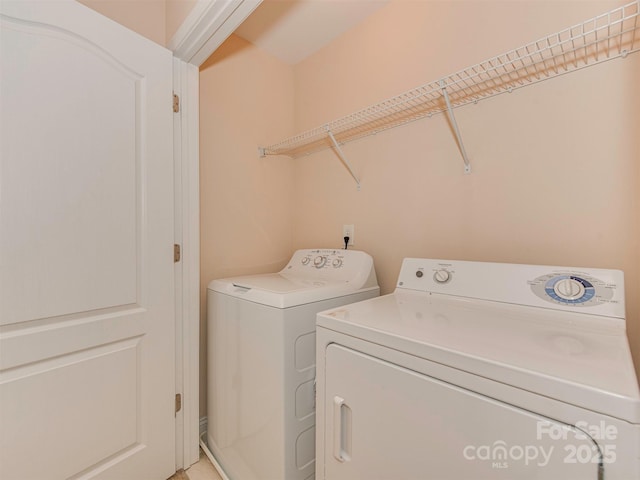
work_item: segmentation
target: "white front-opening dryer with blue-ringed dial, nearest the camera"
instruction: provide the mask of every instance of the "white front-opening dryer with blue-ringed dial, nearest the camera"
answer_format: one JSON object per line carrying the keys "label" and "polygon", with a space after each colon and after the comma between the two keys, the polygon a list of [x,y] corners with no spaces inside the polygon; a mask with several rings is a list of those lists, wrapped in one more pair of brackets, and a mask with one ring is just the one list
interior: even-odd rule
{"label": "white front-opening dryer with blue-ringed dial, nearest the camera", "polygon": [[640,479],[620,271],[405,259],[317,319],[316,478]]}

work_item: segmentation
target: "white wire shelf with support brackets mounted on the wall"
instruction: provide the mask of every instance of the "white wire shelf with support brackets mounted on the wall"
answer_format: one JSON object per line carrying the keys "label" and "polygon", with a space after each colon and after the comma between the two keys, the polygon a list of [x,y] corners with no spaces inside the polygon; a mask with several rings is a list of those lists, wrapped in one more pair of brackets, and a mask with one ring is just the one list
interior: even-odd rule
{"label": "white wire shelf with support brackets mounted on the wall", "polygon": [[[261,156],[298,158],[640,50],[640,0],[281,142]],[[446,90],[445,90],[446,89]],[[448,94],[448,95],[447,95]],[[448,96],[448,99],[447,99]],[[448,100],[448,101],[447,101]],[[455,128],[452,110],[448,110]],[[469,168],[459,132],[456,136]],[[339,152],[342,158],[342,152]],[[349,168],[349,165],[347,165]],[[349,168],[352,176],[355,174]]]}

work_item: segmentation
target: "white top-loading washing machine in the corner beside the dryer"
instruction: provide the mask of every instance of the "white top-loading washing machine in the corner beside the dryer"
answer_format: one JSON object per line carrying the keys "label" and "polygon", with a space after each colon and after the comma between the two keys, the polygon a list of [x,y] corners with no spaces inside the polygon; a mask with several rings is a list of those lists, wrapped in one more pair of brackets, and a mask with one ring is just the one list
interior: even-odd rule
{"label": "white top-loading washing machine in the corner beside the dryer", "polygon": [[353,250],[298,250],[279,273],[209,284],[207,441],[231,480],[314,477],[316,314],[379,294]]}

